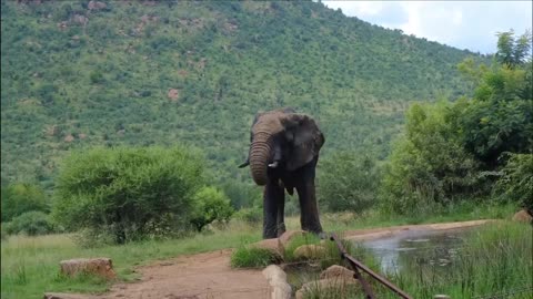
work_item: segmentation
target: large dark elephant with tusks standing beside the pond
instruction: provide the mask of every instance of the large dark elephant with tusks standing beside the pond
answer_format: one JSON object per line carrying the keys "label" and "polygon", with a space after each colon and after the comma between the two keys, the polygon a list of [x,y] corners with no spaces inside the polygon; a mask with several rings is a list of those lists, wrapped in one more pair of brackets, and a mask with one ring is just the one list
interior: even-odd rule
{"label": "large dark elephant with tusks standing beside the pond", "polygon": [[263,189],[263,239],[285,231],[285,189],[298,192],[300,225],[322,234],[314,177],[319,152],[325,138],[313,118],[293,109],[258,113],[253,120],[247,161],[257,185]]}

